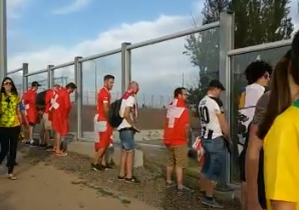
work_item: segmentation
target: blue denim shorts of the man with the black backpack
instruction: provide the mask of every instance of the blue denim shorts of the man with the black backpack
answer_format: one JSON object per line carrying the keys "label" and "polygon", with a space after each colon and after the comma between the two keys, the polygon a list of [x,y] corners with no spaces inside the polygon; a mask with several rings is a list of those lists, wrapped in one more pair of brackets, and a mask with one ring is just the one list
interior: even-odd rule
{"label": "blue denim shorts of the man with the black backpack", "polygon": [[125,128],[119,131],[119,138],[124,151],[131,152],[135,149],[134,135],[135,131],[131,128]]}

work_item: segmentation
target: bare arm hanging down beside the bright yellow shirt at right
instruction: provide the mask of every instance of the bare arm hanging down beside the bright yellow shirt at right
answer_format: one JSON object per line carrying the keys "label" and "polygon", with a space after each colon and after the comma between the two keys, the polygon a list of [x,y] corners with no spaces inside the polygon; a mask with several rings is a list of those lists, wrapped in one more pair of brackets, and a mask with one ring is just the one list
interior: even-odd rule
{"label": "bare arm hanging down beside the bright yellow shirt at right", "polygon": [[256,136],[257,127],[257,125],[251,125],[245,162],[247,187],[248,192],[251,192],[247,194],[249,202],[258,202],[258,164],[263,141]]}

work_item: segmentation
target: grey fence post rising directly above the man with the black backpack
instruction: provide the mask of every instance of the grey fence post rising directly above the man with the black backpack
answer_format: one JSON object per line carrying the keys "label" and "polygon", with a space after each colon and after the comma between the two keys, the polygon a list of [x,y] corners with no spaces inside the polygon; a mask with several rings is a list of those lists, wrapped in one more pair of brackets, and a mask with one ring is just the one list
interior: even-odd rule
{"label": "grey fence post rising directly above the man with the black backpack", "polygon": [[121,92],[125,93],[131,80],[131,51],[127,50],[130,43],[121,44]]}

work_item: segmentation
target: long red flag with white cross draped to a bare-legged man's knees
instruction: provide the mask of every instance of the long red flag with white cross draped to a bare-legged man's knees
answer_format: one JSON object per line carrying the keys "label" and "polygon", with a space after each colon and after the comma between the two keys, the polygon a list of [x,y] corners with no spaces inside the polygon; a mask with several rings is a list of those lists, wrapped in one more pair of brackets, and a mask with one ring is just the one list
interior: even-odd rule
{"label": "long red flag with white cross draped to a bare-legged man's knees", "polygon": [[49,108],[53,130],[62,136],[68,134],[68,115],[71,109],[69,93],[66,88],[59,88],[51,99]]}

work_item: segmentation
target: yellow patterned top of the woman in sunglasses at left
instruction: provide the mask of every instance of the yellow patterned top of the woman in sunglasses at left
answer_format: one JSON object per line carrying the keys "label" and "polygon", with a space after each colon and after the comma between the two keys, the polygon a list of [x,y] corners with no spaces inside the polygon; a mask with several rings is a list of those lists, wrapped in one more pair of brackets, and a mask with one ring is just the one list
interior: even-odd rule
{"label": "yellow patterned top of the woman in sunglasses at left", "polygon": [[18,95],[9,94],[5,96],[2,93],[1,97],[1,118],[0,118],[0,127],[4,128],[13,128],[20,125],[20,119],[18,117],[17,109],[21,102],[21,99]]}

